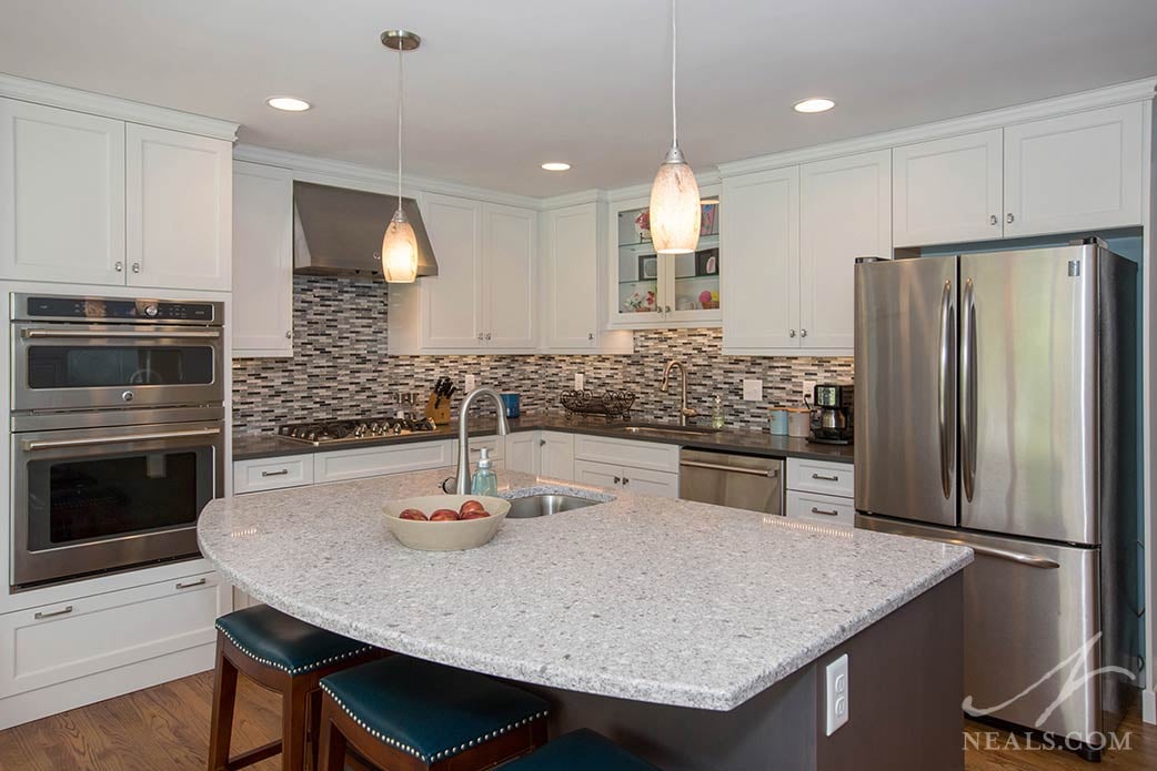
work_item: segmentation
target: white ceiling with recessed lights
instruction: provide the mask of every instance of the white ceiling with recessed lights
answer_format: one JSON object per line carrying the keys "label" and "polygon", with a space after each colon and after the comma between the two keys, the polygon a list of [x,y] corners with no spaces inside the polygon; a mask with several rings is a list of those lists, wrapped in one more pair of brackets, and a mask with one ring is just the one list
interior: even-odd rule
{"label": "white ceiling with recessed lights", "polygon": [[[1157,74],[1155,0],[680,0],[694,166]],[[2,0],[0,72],[242,124],[241,140],[552,195],[648,181],[669,143],[666,0]],[[275,94],[315,104],[265,106]],[[818,116],[797,99],[830,96]],[[547,173],[544,161],[574,164]]]}

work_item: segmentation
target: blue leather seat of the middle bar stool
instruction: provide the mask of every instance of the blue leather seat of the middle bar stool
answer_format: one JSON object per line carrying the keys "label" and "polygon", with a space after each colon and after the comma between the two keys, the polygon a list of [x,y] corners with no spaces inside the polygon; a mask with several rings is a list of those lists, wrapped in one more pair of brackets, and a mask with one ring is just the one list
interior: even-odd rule
{"label": "blue leather seat of the middle bar stool", "polygon": [[322,690],[371,736],[427,765],[544,718],[550,707],[486,675],[405,655],[332,674]]}

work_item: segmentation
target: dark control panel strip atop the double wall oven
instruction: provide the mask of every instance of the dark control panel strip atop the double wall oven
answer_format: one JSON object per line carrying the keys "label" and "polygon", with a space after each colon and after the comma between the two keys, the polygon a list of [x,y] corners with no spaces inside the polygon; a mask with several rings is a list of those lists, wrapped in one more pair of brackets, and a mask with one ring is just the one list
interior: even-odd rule
{"label": "dark control panel strip atop the double wall oven", "polygon": [[17,296],[16,319],[58,321],[135,321],[221,324],[221,303],[103,297]]}

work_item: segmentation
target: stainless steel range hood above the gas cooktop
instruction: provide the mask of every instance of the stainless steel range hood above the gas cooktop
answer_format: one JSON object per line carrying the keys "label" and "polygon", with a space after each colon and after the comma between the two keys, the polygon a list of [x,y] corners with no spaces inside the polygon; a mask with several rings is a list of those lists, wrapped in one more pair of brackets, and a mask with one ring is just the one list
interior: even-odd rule
{"label": "stainless steel range hood above the gas cooktop", "polygon": [[[293,184],[293,272],[310,276],[382,279],[382,237],[398,207],[393,195]],[[401,199],[418,237],[418,275],[436,276],[437,261],[418,201]]]}

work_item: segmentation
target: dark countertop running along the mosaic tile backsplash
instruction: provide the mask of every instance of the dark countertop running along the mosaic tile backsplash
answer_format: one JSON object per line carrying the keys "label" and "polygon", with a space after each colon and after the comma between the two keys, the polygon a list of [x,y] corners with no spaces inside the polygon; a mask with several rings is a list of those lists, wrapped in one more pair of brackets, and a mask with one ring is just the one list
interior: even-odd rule
{"label": "dark countertop running along the mosaic tile backsplash", "polygon": [[[752,429],[723,429],[721,431],[695,431],[687,433],[670,433],[641,430],[627,431],[627,425],[647,425],[631,421],[609,423],[603,418],[567,418],[557,413],[526,413],[523,417],[509,421],[511,431],[568,431],[570,433],[592,433],[597,436],[634,439],[636,442],[661,442],[677,444],[697,450],[716,450],[718,452],[738,452],[751,455],[775,458],[808,458],[813,460],[831,460],[850,464],[853,448],[850,445],[812,444],[806,439],[786,436],[772,436],[767,431]],[[493,418],[471,418],[470,436],[494,433],[496,422]],[[669,427],[677,428],[677,427]],[[310,452],[331,452],[352,447],[373,447],[383,444],[400,444],[406,442],[432,442],[435,439],[454,439],[458,436],[457,421],[440,427],[436,431],[410,433],[406,436],[364,439],[356,443],[338,443],[330,445],[312,445],[279,437],[275,433],[241,433],[233,438],[233,459],[253,460],[259,458],[277,458],[279,455],[296,455]]]}

